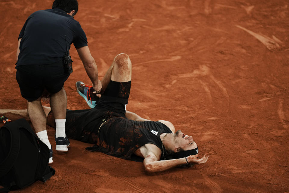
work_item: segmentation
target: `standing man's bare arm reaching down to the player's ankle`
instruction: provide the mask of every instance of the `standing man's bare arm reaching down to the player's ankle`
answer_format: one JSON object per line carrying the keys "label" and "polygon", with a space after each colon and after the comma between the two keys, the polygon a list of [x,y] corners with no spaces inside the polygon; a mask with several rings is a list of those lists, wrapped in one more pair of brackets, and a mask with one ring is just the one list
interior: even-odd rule
{"label": "standing man's bare arm reaching down to the player's ankle", "polygon": [[77,48],[76,50],[79,55],[79,58],[81,59],[83,63],[85,71],[92,82],[92,87],[94,88],[96,93],[100,93],[102,85],[101,85],[101,81],[98,80],[97,65],[95,63],[94,58],[92,57],[90,53],[88,46],[83,46],[81,48]]}

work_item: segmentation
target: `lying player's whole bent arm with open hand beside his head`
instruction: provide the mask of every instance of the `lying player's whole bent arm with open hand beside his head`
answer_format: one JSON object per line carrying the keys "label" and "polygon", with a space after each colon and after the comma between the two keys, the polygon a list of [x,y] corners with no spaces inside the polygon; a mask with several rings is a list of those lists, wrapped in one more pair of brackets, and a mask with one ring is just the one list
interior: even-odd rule
{"label": "lying player's whole bent arm with open hand beside his head", "polygon": [[[157,147],[156,147],[157,148]],[[187,160],[185,157],[179,159],[172,159],[172,160],[159,160],[161,155],[161,150],[158,148],[147,148],[147,155],[144,158],[144,168],[147,172],[161,172],[182,164],[186,164],[187,160],[188,163],[206,163],[209,156],[204,155],[201,159],[197,159],[193,155],[188,156]]]}

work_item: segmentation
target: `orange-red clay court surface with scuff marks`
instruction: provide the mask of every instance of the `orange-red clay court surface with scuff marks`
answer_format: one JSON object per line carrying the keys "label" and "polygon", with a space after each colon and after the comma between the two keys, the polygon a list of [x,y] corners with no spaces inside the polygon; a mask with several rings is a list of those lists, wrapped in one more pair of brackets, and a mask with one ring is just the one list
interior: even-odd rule
{"label": "orange-red clay court surface with scuff marks", "polygon": [[[17,37],[52,0],[0,1],[0,108],[26,109],[15,79]],[[56,173],[19,192],[289,192],[289,2],[79,0],[100,77],[115,55],[132,61],[127,110],[192,135],[203,165],[148,174],[142,163],[89,152],[70,140]],[[68,109],[87,109],[90,84],[72,45]],[[48,127],[54,146],[54,129]]]}

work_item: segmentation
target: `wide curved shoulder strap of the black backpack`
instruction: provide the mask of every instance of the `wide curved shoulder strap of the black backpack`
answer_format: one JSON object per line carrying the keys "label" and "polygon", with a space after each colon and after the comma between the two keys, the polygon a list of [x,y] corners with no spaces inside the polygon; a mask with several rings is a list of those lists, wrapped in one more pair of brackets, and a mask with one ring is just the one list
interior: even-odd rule
{"label": "wide curved shoulder strap of the black backpack", "polygon": [[19,136],[18,126],[21,124],[23,120],[25,121],[25,119],[23,120],[19,119],[19,120],[20,121],[16,120],[2,127],[2,128],[7,128],[8,131],[10,132],[11,141],[10,141],[10,151],[8,153],[8,156],[2,163],[0,163],[0,178],[5,176],[5,174],[7,174],[7,172],[12,168],[12,166],[14,165],[14,162],[16,161],[18,157],[18,153],[20,150],[20,136]]}

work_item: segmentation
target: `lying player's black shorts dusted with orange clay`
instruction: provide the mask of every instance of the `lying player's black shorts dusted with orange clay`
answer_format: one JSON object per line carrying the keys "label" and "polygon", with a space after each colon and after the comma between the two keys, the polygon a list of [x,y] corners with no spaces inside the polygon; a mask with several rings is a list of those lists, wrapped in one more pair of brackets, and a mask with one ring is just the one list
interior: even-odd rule
{"label": "lying player's black shorts dusted with orange clay", "polygon": [[[131,81],[110,81],[94,109],[67,110],[65,132],[68,138],[95,144],[100,125],[112,117],[126,116]],[[125,118],[126,119],[126,118]],[[49,112],[47,124],[55,128],[53,113]]]}

